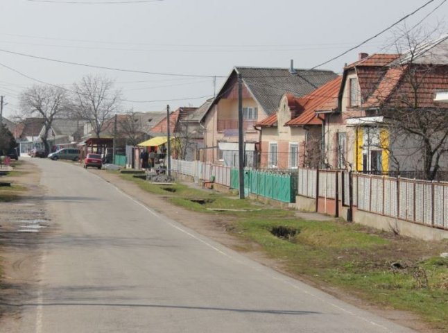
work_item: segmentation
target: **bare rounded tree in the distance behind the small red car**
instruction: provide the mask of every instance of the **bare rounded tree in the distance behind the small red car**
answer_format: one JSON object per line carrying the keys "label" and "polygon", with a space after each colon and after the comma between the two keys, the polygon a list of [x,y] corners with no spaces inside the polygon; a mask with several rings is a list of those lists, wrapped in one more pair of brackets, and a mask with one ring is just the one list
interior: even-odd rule
{"label": "bare rounded tree in the distance behind the small red car", "polygon": [[73,107],[76,117],[89,121],[96,137],[120,107],[121,92],[105,76],[87,75],[74,84]]}

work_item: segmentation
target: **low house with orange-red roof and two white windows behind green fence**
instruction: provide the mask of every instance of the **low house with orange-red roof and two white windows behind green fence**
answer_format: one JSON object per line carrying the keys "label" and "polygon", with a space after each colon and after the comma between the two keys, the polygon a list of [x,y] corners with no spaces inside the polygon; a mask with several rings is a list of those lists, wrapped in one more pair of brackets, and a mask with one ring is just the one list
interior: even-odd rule
{"label": "low house with orange-red roof and two white windows behind green fence", "polygon": [[338,76],[301,97],[284,94],[277,111],[257,123],[261,168],[319,167],[323,119],[316,112],[336,110],[341,80]]}

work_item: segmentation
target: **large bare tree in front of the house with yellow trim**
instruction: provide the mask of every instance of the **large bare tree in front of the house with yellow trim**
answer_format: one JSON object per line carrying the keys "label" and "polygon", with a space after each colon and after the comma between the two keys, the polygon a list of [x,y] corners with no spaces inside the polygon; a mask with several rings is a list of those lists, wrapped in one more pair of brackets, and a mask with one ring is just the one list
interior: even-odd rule
{"label": "large bare tree in front of the house with yellow trim", "polygon": [[438,43],[447,45],[447,40],[431,41],[417,32],[406,33],[404,43],[407,51],[399,52],[402,56],[386,73],[384,96],[377,96],[382,100],[380,113],[383,126],[396,138],[391,155],[419,152],[416,162],[424,178],[434,180],[448,157],[448,108],[433,101],[435,85],[448,88],[448,64],[440,62],[436,51]]}

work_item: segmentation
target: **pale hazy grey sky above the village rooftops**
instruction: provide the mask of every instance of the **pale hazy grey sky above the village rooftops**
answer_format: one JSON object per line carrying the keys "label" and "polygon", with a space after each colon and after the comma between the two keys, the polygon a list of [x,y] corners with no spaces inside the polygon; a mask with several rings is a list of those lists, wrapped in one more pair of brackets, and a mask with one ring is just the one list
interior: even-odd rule
{"label": "pale hazy grey sky above the village rooftops", "polygon": [[[110,3],[117,1],[122,3]],[[429,0],[128,1],[0,0],[3,116],[19,112],[19,94],[26,87],[50,83],[71,89],[89,74],[115,81],[123,111],[199,106],[214,96],[234,66],[288,68],[292,59],[296,68],[315,67]],[[448,32],[446,1],[431,1],[399,26],[421,22],[422,28],[441,26]],[[319,69],[341,73],[360,52],[393,53],[394,34],[388,30]],[[173,75],[69,65],[6,51]]]}

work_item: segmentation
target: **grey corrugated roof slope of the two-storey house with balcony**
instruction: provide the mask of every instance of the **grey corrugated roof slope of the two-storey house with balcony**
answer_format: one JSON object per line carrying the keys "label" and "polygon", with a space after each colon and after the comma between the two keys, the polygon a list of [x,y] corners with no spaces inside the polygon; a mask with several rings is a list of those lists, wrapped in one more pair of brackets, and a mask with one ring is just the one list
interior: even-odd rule
{"label": "grey corrugated roof slope of the two-storey house with balcony", "polygon": [[286,93],[302,97],[333,80],[338,74],[318,69],[235,67],[243,83],[266,113],[273,114]]}

